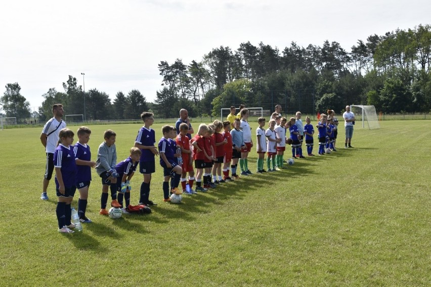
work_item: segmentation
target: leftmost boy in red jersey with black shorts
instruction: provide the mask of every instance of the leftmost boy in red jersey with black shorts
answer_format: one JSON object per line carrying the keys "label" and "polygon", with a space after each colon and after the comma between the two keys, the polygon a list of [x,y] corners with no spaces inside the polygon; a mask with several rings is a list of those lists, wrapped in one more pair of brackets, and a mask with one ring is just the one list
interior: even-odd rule
{"label": "leftmost boy in red jersey with black shorts", "polygon": [[195,160],[196,168],[196,192],[206,192],[208,189],[202,186],[202,174],[205,168],[205,158],[207,156],[205,152],[205,139],[204,135],[208,132],[208,126],[206,124],[200,124],[198,133],[190,140],[193,146],[193,159]]}

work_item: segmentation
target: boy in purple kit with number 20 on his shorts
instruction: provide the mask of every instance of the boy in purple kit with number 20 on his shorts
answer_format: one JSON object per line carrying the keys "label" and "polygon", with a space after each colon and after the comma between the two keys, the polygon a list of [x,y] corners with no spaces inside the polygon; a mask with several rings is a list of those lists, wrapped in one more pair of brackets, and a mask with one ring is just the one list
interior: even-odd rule
{"label": "boy in purple kit with number 20 on his shorts", "polygon": [[78,215],[79,221],[83,223],[92,222],[85,216],[87,209],[87,199],[89,197],[89,187],[91,182],[91,168],[96,166],[96,162],[91,160],[90,147],[87,143],[90,140],[91,130],[86,126],[81,126],[76,132],[78,142],[73,146],[73,154],[76,163],[76,188],[79,192]]}

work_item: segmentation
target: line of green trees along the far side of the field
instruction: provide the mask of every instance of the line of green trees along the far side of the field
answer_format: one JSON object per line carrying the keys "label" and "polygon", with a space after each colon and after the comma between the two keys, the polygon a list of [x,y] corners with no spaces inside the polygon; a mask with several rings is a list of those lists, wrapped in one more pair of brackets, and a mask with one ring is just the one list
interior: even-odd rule
{"label": "line of green trees along the far side of the field", "polygon": [[[431,110],[431,25],[370,35],[344,50],[326,40],[322,46],[307,47],[291,42],[282,51],[260,42],[241,43],[236,50],[220,46],[201,61],[186,65],[158,65],[161,89],[154,103],[137,89],[117,92],[113,102],[98,89],[82,91],[76,78],[69,76],[64,91],[50,88],[37,116],[51,117],[54,103],[63,103],[67,114],[85,114],[87,120],[137,119],[144,110],[159,118],[178,117],[186,108],[192,117],[219,115],[220,108],[245,103],[248,106],[286,103],[285,110],[312,99],[310,112],[327,107],[340,113],[347,104],[374,105],[383,113],[416,113]],[[29,103],[20,94],[18,83],[8,83],[0,98],[6,116],[30,116]],[[307,91],[307,92],[300,92]]]}

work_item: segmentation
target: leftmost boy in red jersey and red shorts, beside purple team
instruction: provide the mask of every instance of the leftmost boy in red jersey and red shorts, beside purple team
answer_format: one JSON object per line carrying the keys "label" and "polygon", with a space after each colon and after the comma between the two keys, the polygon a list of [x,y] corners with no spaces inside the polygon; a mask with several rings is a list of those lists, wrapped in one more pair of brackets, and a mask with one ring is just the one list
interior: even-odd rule
{"label": "leftmost boy in red jersey and red shorts, beside purple team", "polygon": [[193,190],[193,181],[195,180],[195,171],[193,170],[193,157],[192,151],[190,150],[190,142],[189,137],[187,136],[187,131],[189,130],[189,126],[187,123],[180,124],[180,133],[177,135],[177,146],[181,148],[181,157],[183,158],[182,165],[182,173],[181,173],[181,187],[183,188],[183,193],[187,193],[186,191],[186,176],[189,173],[189,186],[190,186],[190,194],[196,194],[195,190]]}

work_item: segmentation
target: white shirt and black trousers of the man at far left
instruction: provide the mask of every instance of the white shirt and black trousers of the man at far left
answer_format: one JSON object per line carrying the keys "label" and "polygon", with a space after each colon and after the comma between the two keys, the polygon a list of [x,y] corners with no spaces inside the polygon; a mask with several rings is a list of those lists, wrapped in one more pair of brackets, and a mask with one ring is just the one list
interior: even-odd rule
{"label": "white shirt and black trousers of the man at far left", "polygon": [[66,127],[66,122],[63,120],[57,121],[56,118],[51,118],[42,129],[42,133],[47,135],[47,164],[45,168],[45,178],[50,180],[54,171],[54,152],[57,148],[58,134],[61,129]]}

